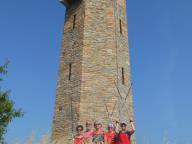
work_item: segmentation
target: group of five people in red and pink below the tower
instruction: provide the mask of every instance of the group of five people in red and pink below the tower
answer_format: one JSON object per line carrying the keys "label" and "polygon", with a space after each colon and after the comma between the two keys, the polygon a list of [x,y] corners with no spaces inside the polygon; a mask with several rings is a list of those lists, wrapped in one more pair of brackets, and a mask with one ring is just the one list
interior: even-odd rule
{"label": "group of five people in red and pink below the tower", "polygon": [[130,120],[130,130],[127,130],[127,124],[124,122],[116,121],[115,123],[116,125],[108,124],[107,132],[98,121],[94,122],[94,129],[89,121],[86,122],[85,130],[82,125],[78,125],[73,144],[131,144],[131,135],[135,132],[133,121]]}

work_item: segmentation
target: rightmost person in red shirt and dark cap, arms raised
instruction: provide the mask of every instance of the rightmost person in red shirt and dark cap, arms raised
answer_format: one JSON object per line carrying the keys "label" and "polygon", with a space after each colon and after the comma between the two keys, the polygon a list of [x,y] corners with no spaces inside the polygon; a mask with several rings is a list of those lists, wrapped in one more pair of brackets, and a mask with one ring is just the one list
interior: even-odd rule
{"label": "rightmost person in red shirt and dark cap, arms raised", "polygon": [[127,124],[121,123],[121,131],[118,134],[118,144],[131,144],[131,135],[135,132],[133,121],[130,120],[131,130],[127,131]]}

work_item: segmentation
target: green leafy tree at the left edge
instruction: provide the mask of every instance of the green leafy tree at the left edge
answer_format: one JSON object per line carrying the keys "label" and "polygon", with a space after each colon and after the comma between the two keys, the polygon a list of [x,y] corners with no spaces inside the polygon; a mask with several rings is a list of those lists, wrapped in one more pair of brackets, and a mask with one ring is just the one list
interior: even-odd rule
{"label": "green leafy tree at the left edge", "polygon": [[[0,82],[3,80],[2,76],[7,74],[8,61],[0,66]],[[2,90],[0,87],[0,144],[4,142],[4,134],[7,131],[9,123],[14,118],[22,117],[23,112],[21,109],[14,108],[14,101],[9,97],[10,91]]]}

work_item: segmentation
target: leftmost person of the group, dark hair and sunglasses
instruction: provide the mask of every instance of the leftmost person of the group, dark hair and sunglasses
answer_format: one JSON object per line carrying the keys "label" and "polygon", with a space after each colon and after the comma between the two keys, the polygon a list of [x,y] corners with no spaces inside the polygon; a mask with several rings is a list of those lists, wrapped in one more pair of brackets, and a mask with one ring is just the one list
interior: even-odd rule
{"label": "leftmost person of the group, dark hair and sunglasses", "polygon": [[83,126],[78,125],[76,127],[77,134],[74,137],[74,142],[73,144],[85,144],[85,138],[83,135]]}

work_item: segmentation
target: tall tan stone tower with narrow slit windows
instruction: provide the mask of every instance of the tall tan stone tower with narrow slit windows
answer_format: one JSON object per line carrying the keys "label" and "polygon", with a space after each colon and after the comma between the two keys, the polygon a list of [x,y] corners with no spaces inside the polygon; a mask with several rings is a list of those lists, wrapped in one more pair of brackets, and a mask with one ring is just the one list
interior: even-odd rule
{"label": "tall tan stone tower with narrow slit windows", "polygon": [[[133,119],[126,0],[61,0],[66,6],[52,142],[78,124]],[[134,137],[133,137],[134,144]]]}

